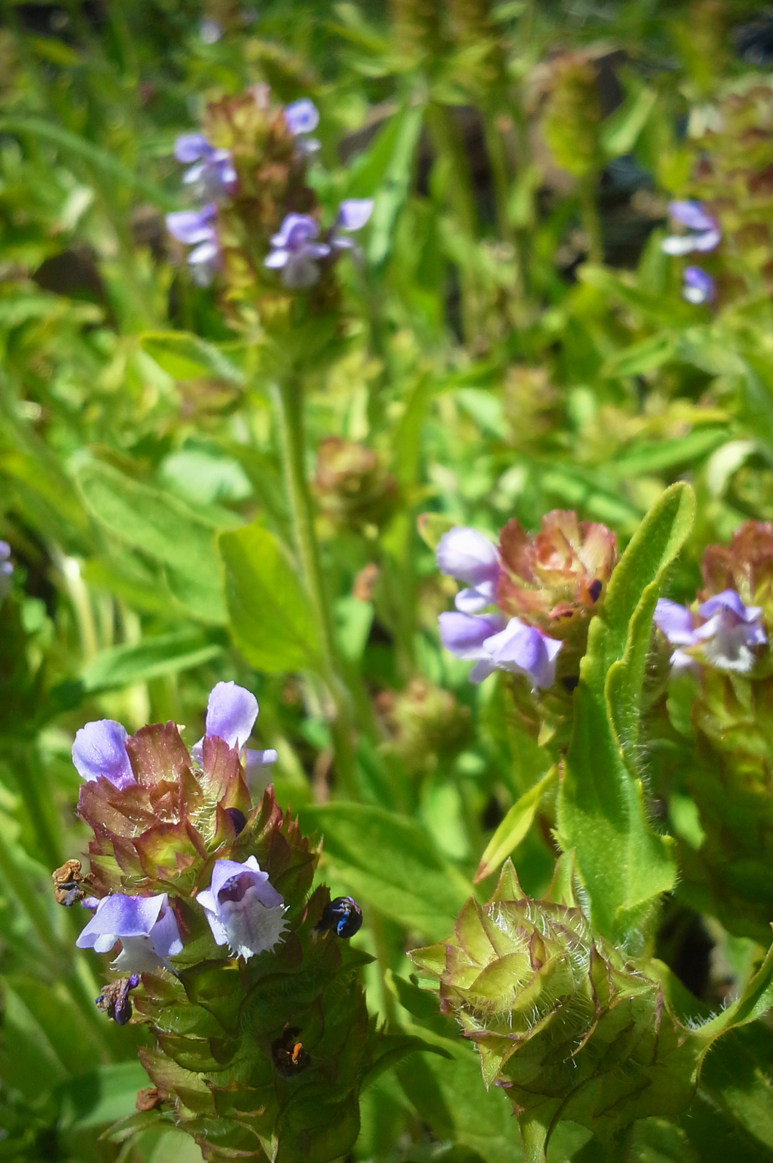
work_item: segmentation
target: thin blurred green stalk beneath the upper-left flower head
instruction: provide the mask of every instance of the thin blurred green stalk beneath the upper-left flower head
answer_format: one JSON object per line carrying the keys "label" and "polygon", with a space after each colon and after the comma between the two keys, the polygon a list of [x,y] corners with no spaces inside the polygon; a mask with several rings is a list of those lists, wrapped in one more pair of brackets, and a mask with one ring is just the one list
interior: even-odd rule
{"label": "thin blurred green stalk beneath the upper-left flower head", "polygon": [[320,562],[320,547],[314,529],[312,497],[306,480],[301,377],[295,373],[281,378],[275,385],[274,400],[295,549],[316,622],[322,677],[336,708],[336,718],[331,723],[336,773],[349,799],[357,799],[351,699],[341,677],[343,668],[338,659],[330,604]]}

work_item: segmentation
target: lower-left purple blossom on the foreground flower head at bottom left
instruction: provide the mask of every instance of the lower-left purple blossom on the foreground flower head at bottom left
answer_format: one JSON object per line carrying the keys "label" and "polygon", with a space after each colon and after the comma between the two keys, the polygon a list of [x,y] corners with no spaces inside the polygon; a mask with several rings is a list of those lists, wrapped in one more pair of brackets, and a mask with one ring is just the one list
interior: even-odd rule
{"label": "lower-left purple blossom on the foreground flower head at bottom left", "polygon": [[76,941],[79,949],[109,952],[116,941],[121,952],[112,963],[122,973],[152,973],[171,969],[170,957],[182,952],[177,919],[165,892],[158,897],[103,897]]}

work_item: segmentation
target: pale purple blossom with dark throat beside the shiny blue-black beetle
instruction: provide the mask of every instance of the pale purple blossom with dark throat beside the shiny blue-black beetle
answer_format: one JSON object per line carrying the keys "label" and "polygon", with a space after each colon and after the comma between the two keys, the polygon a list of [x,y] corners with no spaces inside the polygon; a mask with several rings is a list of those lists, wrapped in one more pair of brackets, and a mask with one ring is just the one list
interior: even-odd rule
{"label": "pale purple blossom with dark throat beside the shiny blue-black beetle", "polygon": [[266,952],[285,932],[285,902],[269,884],[255,856],[238,861],[215,861],[209,889],[196,900],[202,906],[217,944],[248,961]]}

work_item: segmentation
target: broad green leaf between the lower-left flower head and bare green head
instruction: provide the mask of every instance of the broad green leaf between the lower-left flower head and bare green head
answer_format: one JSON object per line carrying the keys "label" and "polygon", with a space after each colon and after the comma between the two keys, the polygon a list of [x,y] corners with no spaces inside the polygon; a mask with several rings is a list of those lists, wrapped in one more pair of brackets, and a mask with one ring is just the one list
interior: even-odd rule
{"label": "broad green leaf between the lower-left flower head and bare green head", "polygon": [[406,928],[441,940],[471,885],[415,820],[365,804],[301,808],[303,828],[324,837],[324,857],[355,897]]}

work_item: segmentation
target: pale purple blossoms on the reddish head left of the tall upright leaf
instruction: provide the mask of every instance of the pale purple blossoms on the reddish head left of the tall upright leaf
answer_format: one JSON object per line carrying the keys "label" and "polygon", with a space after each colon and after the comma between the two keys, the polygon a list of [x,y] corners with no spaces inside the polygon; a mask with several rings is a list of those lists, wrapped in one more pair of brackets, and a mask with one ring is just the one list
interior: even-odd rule
{"label": "pale purple blossoms on the reddish head left of the tall upright leaf", "polygon": [[441,537],[436,561],[441,573],[468,586],[457,594],[456,611],[441,614],[438,623],[445,649],[475,662],[470,680],[481,683],[495,670],[506,670],[525,676],[532,690],[552,686],[561,643],[520,618],[480,613],[496,597],[496,545],[477,529],[457,527]]}

